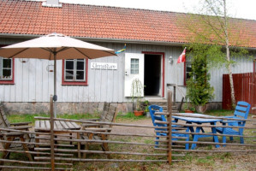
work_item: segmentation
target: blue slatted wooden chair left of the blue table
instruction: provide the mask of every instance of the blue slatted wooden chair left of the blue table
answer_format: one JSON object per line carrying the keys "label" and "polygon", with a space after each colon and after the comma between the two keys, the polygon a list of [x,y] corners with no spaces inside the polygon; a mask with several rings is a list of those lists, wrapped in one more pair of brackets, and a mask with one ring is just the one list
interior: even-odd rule
{"label": "blue slatted wooden chair left of the blue table", "polygon": [[[155,121],[166,121],[164,115],[154,115],[155,112],[163,112],[163,108],[158,106],[158,105],[150,105],[148,107],[149,109],[149,112],[150,112],[150,115],[151,115],[151,118],[152,118],[152,123],[153,123],[153,126],[154,127],[167,127],[166,124],[161,124],[161,123],[156,123]],[[172,125],[173,129],[172,131],[176,131],[177,130],[175,129],[175,127],[179,127],[179,126],[176,126],[176,125]],[[164,129],[164,128],[155,128],[155,130],[162,130],[162,131],[167,131],[167,129]],[[189,129],[186,130],[186,132],[189,132]],[[156,133],[157,136],[167,136],[166,133],[159,133],[157,132]],[[172,137],[186,137],[186,141],[189,141],[189,134],[184,134],[184,133],[172,133]],[[159,137],[156,138],[156,140],[158,140]],[[177,139],[172,139],[172,140],[177,140]],[[156,144],[156,147],[158,147],[158,141],[155,142]],[[189,149],[189,144],[185,144],[185,148],[186,150]]]}

